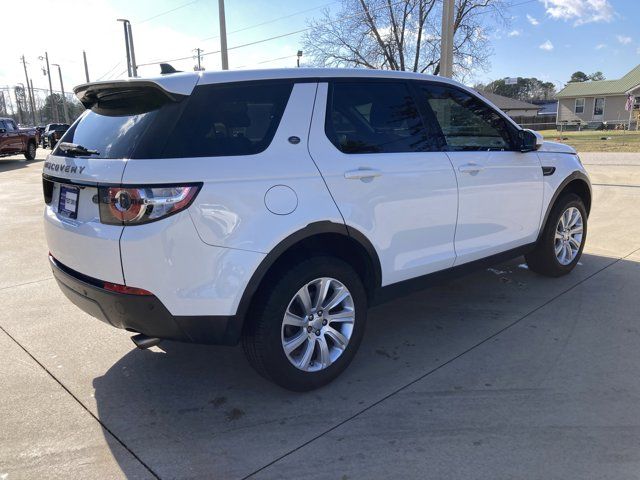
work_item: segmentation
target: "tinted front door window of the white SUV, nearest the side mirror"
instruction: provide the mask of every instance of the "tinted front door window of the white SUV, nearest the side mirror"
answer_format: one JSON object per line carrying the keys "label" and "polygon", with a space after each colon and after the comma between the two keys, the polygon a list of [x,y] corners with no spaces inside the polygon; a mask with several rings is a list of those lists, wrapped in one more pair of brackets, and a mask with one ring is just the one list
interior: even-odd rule
{"label": "tinted front door window of the white SUV, nearest the side mirror", "polygon": [[513,129],[480,99],[442,85],[422,85],[420,91],[440,125],[447,150],[512,150]]}

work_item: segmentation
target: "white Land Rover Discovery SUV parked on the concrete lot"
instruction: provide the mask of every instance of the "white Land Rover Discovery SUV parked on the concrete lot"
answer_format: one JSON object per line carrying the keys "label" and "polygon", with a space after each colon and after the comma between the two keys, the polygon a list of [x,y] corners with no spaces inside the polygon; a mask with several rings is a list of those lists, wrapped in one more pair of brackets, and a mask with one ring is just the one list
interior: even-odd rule
{"label": "white Land Rover Discovery SUV parked on the concrete lot", "polygon": [[563,275],[584,246],[575,151],[445,78],[174,73],[75,93],[88,110],[44,164],[51,265],[143,348],[242,339],[261,374],[308,390],[352,360],[373,303],[522,254]]}

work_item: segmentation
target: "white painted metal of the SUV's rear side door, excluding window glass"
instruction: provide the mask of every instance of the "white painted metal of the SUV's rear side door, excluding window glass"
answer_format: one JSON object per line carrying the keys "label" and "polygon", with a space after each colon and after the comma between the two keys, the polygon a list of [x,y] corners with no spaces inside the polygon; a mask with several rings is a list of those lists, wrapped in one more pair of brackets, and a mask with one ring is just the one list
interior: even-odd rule
{"label": "white painted metal of the SUV's rear side door, excluding window glass", "polygon": [[[457,214],[456,177],[444,152],[340,152],[325,134],[327,83],[318,86],[311,125],[311,156],[346,224],[372,243],[387,285],[451,267]],[[374,169],[380,176],[347,179]]]}

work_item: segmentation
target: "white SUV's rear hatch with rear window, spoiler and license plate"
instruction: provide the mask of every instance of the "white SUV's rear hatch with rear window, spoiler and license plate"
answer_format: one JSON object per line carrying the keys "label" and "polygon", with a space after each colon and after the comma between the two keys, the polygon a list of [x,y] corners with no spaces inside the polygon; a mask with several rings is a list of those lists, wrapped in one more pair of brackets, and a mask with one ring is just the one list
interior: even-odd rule
{"label": "white SUV's rear hatch with rear window, spoiler and license plate", "polygon": [[[197,77],[189,81],[192,89]],[[49,251],[77,272],[126,284],[120,260],[124,227],[100,221],[99,187],[120,185],[128,159],[162,147],[163,132],[178,118],[185,95],[143,80],[82,85],[76,95],[87,111],[43,168]]]}

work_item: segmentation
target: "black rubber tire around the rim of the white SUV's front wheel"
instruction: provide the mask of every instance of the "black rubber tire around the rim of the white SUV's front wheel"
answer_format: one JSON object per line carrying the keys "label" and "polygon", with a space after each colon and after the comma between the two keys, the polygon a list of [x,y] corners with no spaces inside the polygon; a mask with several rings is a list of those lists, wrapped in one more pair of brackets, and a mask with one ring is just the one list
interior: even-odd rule
{"label": "black rubber tire around the rim of the white SUV's front wheel", "polygon": [[[572,207],[577,208],[580,215],[582,215],[582,240],[575,258],[571,263],[563,265],[556,257],[555,234],[561,215]],[[587,211],[584,207],[584,202],[574,193],[563,195],[556,201],[555,205],[551,209],[549,218],[547,218],[547,223],[544,226],[542,236],[540,237],[535,249],[525,255],[527,265],[529,265],[529,269],[534,272],[548,277],[560,277],[562,275],[566,275],[575,268],[580,260],[586,239]]]}

